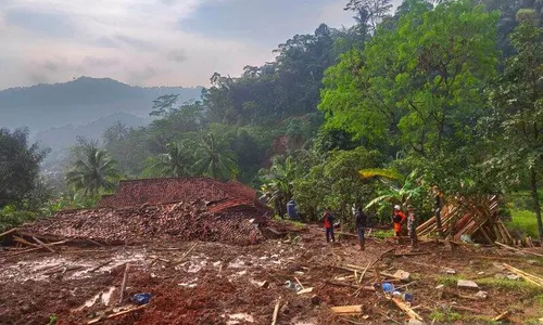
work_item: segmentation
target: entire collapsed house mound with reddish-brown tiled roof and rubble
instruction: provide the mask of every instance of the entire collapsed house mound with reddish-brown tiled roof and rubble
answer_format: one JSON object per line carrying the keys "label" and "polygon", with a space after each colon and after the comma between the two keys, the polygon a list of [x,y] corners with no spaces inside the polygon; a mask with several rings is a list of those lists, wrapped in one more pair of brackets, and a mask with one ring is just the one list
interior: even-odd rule
{"label": "entire collapsed house mound with reddish-brown tiled roof and rubble", "polygon": [[207,178],[122,181],[98,208],[63,210],[24,225],[15,239],[39,236],[49,243],[70,239],[105,245],[148,240],[210,240],[238,245],[264,239],[269,208],[256,191],[239,182]]}

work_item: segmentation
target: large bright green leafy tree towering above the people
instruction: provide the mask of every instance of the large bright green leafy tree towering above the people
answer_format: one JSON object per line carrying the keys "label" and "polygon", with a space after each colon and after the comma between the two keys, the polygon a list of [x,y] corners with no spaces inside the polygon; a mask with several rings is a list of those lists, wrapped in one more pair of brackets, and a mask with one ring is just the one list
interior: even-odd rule
{"label": "large bright green leafy tree towering above the people", "polygon": [[364,52],[344,54],[327,72],[319,108],[330,128],[388,143],[420,166],[447,162],[425,172],[449,184],[496,75],[498,16],[469,0],[434,9],[407,2],[393,28],[378,28]]}

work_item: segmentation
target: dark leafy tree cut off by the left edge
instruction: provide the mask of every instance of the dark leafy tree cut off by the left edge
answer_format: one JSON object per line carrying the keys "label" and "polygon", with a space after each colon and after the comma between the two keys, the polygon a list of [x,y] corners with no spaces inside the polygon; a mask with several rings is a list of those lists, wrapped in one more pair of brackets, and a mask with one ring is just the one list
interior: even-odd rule
{"label": "dark leafy tree cut off by the left edge", "polygon": [[31,198],[39,185],[39,166],[49,151],[30,144],[28,129],[0,129],[0,209]]}

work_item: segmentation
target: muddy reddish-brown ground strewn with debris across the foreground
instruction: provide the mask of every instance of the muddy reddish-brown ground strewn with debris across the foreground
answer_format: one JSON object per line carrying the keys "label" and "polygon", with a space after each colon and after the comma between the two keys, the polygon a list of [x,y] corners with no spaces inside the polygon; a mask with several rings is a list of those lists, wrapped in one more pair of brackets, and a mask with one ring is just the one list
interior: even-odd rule
{"label": "muddy reddish-brown ground strewn with debris across the foreground", "polygon": [[[281,297],[278,324],[381,324],[404,323],[405,314],[376,292],[327,284],[341,282],[339,276],[353,273],[330,266],[356,264],[365,266],[381,252],[406,246],[391,240],[368,239],[365,251],[358,251],[355,240],[342,238],[328,245],[318,227],[301,234],[299,240],[266,240],[253,246],[230,246],[218,243],[148,243],[130,247],[59,247],[52,252],[28,252],[10,256],[0,251],[0,324],[86,324],[100,315],[111,314],[130,306],[129,297],[150,292],[147,308],[105,320],[100,324],[270,324],[276,299]],[[523,283],[495,281],[495,274],[507,274],[496,263],[507,262],[532,274],[543,274],[543,259],[520,256],[503,249],[454,246],[447,250],[438,243],[424,243],[426,255],[394,257],[380,260],[376,268],[394,273],[402,269],[412,273],[407,291],[414,296],[413,307],[428,323],[439,315],[449,315],[449,323],[489,323],[503,311],[510,310],[513,323],[529,323],[543,317],[543,289]],[[541,252],[541,251],[540,251]],[[155,260],[155,258],[162,260]],[[105,261],[112,262],[97,272],[89,270]],[[127,291],[118,304],[124,264],[130,263]],[[80,266],[66,269],[58,265]],[[447,275],[453,269],[456,275]],[[53,272],[59,270],[59,272]],[[295,272],[295,273],[294,273]],[[484,272],[484,274],[480,274]],[[368,272],[363,284],[378,280]],[[285,281],[298,277],[312,294],[296,295],[287,289]],[[480,282],[489,298],[470,300],[477,291],[458,289],[455,276]],[[258,282],[267,281],[267,288]],[[343,281],[345,284],[353,282]],[[444,289],[435,289],[445,283]],[[108,306],[98,302],[79,309],[100,292],[112,289]],[[460,296],[459,296],[460,295]],[[106,295],[104,295],[106,296]],[[312,301],[312,297],[315,296]],[[103,299],[103,297],[102,297]],[[318,300],[318,301],[317,301]],[[363,304],[363,313],[337,316],[330,307]],[[449,312],[451,306],[477,310]],[[244,318],[243,318],[244,316]],[[437,318],[437,323],[447,318]],[[354,323],[353,323],[354,322]]]}

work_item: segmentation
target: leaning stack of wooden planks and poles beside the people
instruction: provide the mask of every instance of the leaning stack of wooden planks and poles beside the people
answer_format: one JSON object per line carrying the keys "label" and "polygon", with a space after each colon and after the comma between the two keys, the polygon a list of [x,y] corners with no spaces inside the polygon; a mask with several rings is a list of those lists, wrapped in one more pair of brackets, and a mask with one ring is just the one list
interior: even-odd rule
{"label": "leaning stack of wooden planks and poles beside the people", "polygon": [[435,217],[417,227],[419,236],[441,234],[453,240],[460,240],[463,235],[481,244],[501,242],[515,244],[504,226],[498,210],[498,197],[456,197],[450,199],[441,210],[442,229],[438,229]]}

